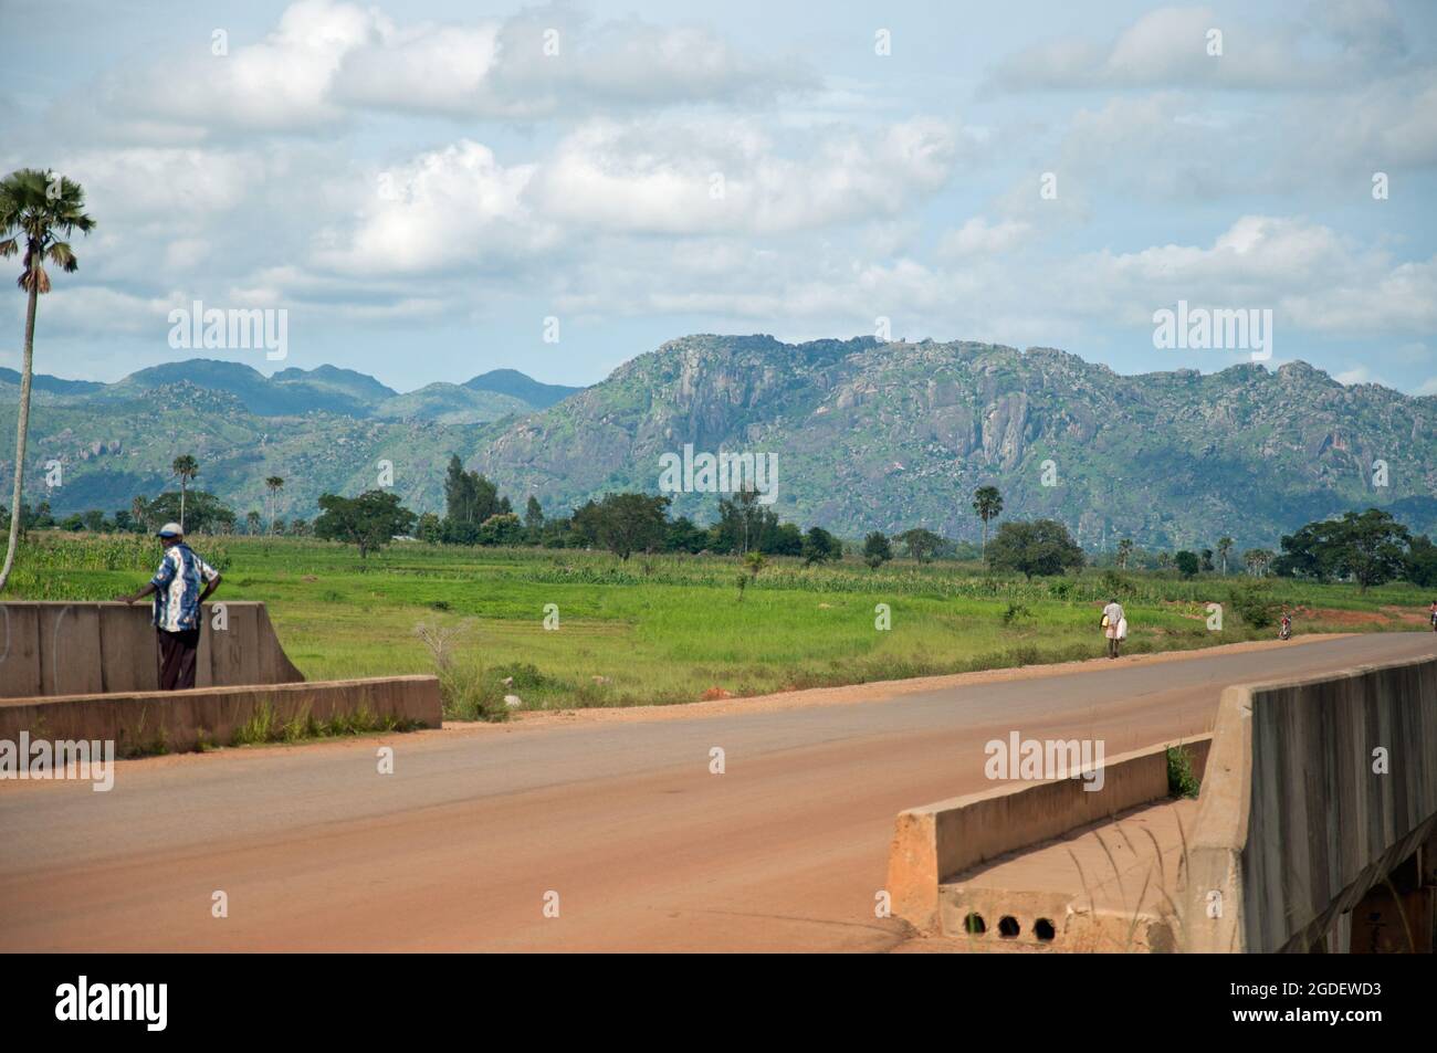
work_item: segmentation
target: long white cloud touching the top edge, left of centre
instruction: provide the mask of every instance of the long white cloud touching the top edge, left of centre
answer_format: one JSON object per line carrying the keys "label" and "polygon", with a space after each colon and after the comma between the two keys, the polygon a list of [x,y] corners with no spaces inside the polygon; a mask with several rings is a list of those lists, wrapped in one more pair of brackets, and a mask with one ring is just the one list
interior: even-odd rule
{"label": "long white cloud touching the top edge, left of centre", "polygon": [[122,134],[193,142],[227,129],[333,132],[374,109],[537,119],[769,103],[818,86],[799,62],[747,57],[691,26],[596,22],[562,6],[401,26],[378,7],[297,0],[262,40],[111,75],[93,93]]}

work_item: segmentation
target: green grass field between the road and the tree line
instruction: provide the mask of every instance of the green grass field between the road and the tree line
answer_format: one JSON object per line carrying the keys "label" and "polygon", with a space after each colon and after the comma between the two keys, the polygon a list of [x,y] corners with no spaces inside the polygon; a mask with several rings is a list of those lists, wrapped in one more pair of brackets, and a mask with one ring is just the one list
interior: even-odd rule
{"label": "green grass field between the road and the tree line", "polygon": [[[193,539],[224,572],[216,599],[269,605],[280,642],[310,679],[435,672],[425,626],[448,635],[440,669],[453,715],[525,708],[685,702],[943,672],[1096,658],[1099,609],[1117,590],[1125,652],[1267,639],[1232,609],[1247,577],[1086,569],[1025,582],[977,565],[895,560],[803,567],[777,559],[740,592],[734,557],[464,549],[397,543],[361,560],[297,539]],[[158,563],[154,539],[36,533],[7,599],[111,599]],[[1430,596],[1407,585],[1267,580],[1299,608],[1296,632],[1426,628]],[[1223,629],[1207,628],[1209,602]],[[891,628],[875,608],[888,605]],[[558,629],[545,628],[546,605]],[[512,682],[504,684],[504,678]]]}

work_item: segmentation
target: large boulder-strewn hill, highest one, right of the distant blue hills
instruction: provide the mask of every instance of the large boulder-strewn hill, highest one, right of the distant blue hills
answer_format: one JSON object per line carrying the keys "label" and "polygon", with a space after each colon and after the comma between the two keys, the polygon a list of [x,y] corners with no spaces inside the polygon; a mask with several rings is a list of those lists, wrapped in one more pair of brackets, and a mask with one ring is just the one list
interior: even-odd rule
{"label": "large boulder-strewn hill, highest one, right of the distant blue hills", "polygon": [[[1119,376],[1049,348],[690,336],[517,421],[477,467],[563,506],[657,490],[661,454],[693,442],[777,454],[777,510],[848,536],[976,537],[970,494],[992,483],[1006,516],[1061,519],[1091,549],[1224,533],[1273,546],[1368,504],[1437,529],[1434,421],[1434,398],[1342,386],[1300,362]],[[1377,460],[1387,487],[1372,484]],[[713,503],[684,494],[675,507]]]}

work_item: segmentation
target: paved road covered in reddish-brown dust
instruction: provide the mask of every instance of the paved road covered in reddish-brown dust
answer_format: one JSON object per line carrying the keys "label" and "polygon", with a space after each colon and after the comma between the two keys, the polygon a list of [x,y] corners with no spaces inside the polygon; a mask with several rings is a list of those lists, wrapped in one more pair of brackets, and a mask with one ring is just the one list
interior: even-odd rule
{"label": "paved road covered in reddish-brown dust", "polygon": [[1434,651],[1433,634],[1349,636],[392,736],[394,774],[359,740],[126,761],[111,793],[0,783],[0,950],[887,950],[894,816],[986,786],[987,740],[1095,736],[1112,754],[1209,730],[1227,684]]}

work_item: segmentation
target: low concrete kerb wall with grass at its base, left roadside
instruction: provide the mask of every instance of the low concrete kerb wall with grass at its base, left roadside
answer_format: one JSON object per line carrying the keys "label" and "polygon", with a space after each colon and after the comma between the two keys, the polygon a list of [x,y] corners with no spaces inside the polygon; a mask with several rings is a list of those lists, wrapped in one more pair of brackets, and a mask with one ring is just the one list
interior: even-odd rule
{"label": "low concrete kerb wall with grass at its base, left roadside", "polygon": [[56,698],[0,700],[0,740],[111,740],[121,756],[228,746],[234,733],[269,707],[285,724],[296,717],[329,721],[368,713],[405,724],[440,727],[435,677],[379,677],[309,684],[139,691]]}

